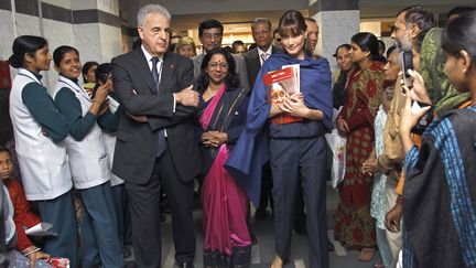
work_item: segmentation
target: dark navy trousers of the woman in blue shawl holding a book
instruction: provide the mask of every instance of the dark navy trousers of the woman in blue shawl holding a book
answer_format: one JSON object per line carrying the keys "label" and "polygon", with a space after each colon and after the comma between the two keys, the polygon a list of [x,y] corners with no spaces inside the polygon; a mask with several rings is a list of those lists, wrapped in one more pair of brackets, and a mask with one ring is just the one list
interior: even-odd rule
{"label": "dark navy trousers of the woman in blue shawl holding a book", "polygon": [[277,254],[282,259],[291,255],[293,215],[302,185],[310,244],[307,266],[327,268],[325,139],[271,139],[270,151]]}

